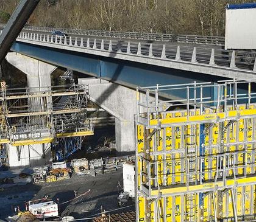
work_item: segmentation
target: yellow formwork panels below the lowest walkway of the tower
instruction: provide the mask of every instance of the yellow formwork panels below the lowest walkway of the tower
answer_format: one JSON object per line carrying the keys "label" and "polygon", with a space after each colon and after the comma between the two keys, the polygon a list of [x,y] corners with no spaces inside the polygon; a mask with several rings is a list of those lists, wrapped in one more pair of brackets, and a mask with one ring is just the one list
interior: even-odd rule
{"label": "yellow formwork panels below the lowest walkway of the tower", "polygon": [[[251,191],[254,195],[251,195]],[[191,209],[188,198],[194,195],[194,209]],[[213,194],[210,193],[202,198],[202,205],[199,206],[199,193],[193,193],[191,195],[176,195],[166,197],[166,203],[164,198],[152,201],[150,218],[151,221],[158,221],[157,215],[160,215],[159,221],[210,221],[214,218],[213,209]],[[218,220],[233,218],[233,204],[230,191],[215,192],[216,212]],[[182,201],[183,199],[183,201]],[[238,218],[255,214],[255,186],[238,186],[235,192],[236,199],[236,212]],[[144,207],[146,198],[144,196],[139,197],[139,220],[145,221]],[[158,206],[157,206],[158,203]],[[164,206],[165,204],[165,206]],[[190,203],[191,204],[191,203]],[[253,204],[253,209],[251,209]],[[166,209],[166,214],[163,213],[163,209]],[[193,217],[190,217],[190,210],[193,212]],[[164,219],[165,218],[165,219]],[[230,220],[231,221],[231,220]],[[239,220],[238,220],[239,221]]]}

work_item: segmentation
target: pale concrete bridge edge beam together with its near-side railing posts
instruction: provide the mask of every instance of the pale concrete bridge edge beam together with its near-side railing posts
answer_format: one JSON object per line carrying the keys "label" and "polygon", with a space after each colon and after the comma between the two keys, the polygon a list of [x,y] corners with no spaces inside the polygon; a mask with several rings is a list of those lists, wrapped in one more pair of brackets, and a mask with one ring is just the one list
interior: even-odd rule
{"label": "pale concrete bridge edge beam together with its near-side railing posts", "polygon": [[96,38],[85,41],[30,32],[21,32],[17,41],[227,78],[251,79],[256,74],[255,52]]}

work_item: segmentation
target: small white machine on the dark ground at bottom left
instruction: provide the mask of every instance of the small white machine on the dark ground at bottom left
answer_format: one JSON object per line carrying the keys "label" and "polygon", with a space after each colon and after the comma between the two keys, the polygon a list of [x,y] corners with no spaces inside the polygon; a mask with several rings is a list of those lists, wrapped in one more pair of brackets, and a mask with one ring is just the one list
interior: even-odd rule
{"label": "small white machine on the dark ground at bottom left", "polygon": [[29,204],[29,212],[37,218],[50,218],[59,216],[58,204],[54,201]]}

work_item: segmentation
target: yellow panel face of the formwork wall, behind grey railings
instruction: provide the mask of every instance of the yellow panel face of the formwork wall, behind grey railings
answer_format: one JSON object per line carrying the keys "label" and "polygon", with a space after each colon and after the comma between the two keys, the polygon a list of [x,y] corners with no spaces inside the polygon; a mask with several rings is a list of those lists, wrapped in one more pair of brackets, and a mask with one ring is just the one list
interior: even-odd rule
{"label": "yellow panel face of the formwork wall, behind grey railings", "polygon": [[[199,115],[193,117],[197,120],[207,119],[212,120],[213,117],[219,117],[224,119],[222,122],[208,122],[208,123],[192,123],[186,125],[172,125],[173,122],[177,120],[187,121],[186,111],[173,111],[165,114],[165,118],[162,117],[164,123],[171,123],[169,127],[162,127],[161,130],[157,130],[154,136],[152,136],[150,142],[150,151],[158,151],[161,154],[152,154],[151,161],[157,161],[157,170],[151,168],[151,173],[157,172],[157,183],[151,182],[152,187],[160,186],[160,193],[165,197],[162,197],[158,200],[151,201],[150,203],[150,218],[151,221],[209,221],[213,220],[215,217],[215,209],[213,204],[213,195],[212,193],[207,194],[207,191],[204,192],[204,189],[210,189],[211,187],[219,186],[221,189],[218,189],[218,192],[215,190],[215,202],[216,202],[216,217],[218,220],[222,218],[232,218],[233,217],[233,204],[230,193],[230,187],[235,187],[235,200],[236,200],[236,213],[239,216],[251,215],[256,213],[255,209],[255,185],[246,185],[253,184],[256,181],[255,167],[252,166],[252,162],[255,162],[255,133],[254,133],[254,121],[255,118],[250,118],[250,114],[255,114],[254,106],[250,106],[250,110],[246,109],[246,106],[241,107],[239,111],[228,111],[227,113],[211,114],[211,111],[205,111],[204,115]],[[190,113],[192,115],[193,113]],[[196,114],[199,114],[196,111]],[[208,117],[207,117],[208,115]],[[225,120],[226,117],[237,117],[238,120],[230,123],[230,120]],[[207,118],[206,118],[207,117]],[[246,117],[243,119],[243,117]],[[186,119],[186,120],[185,120]],[[191,117],[190,117],[191,119]],[[154,120],[151,120],[154,123]],[[204,181],[202,185],[193,186],[190,185],[189,189],[185,186],[187,182],[187,177],[184,176],[184,148],[193,147],[191,144],[196,144],[196,151],[199,152],[200,146],[200,125],[204,124]],[[193,127],[195,130],[193,130]],[[137,126],[137,139],[138,139],[138,153],[141,153],[143,156],[144,149],[144,126]],[[151,133],[152,133],[151,129]],[[193,133],[196,135],[193,136]],[[222,134],[222,136],[221,136]],[[165,137],[165,138],[164,138]],[[183,138],[183,139],[182,139]],[[165,143],[164,143],[165,141]],[[246,144],[243,142],[246,141]],[[250,141],[252,141],[250,143]],[[223,147],[221,150],[219,144],[229,144],[226,147]],[[234,144],[234,145],[232,145]],[[236,145],[239,144],[239,145]],[[209,148],[210,147],[210,148]],[[163,151],[166,151],[166,154],[163,154]],[[221,154],[222,152],[234,153],[230,154],[227,159],[218,159],[216,155]],[[245,151],[243,153],[243,151]],[[244,161],[247,163],[247,166],[243,168],[238,168],[237,170],[229,170],[227,176],[238,177],[236,180],[230,178],[227,179],[227,186],[229,189],[225,190],[225,185],[223,182],[214,182],[216,177],[216,168],[221,162],[224,162],[226,165],[235,165],[236,167],[241,167],[244,164]],[[164,164],[165,162],[165,164]],[[145,165],[139,160],[138,161],[138,181],[140,183],[140,173],[145,172]],[[197,164],[199,162],[197,161]],[[222,163],[223,164],[223,163]],[[164,167],[165,165],[165,167]],[[142,168],[141,168],[142,167]],[[142,171],[141,171],[142,170]],[[197,169],[196,169],[197,170]],[[251,175],[253,177],[244,178],[244,173],[246,175]],[[243,176],[243,178],[239,178]],[[195,176],[196,179],[199,179],[199,176]],[[193,178],[192,178],[193,181]],[[205,185],[204,185],[205,183]],[[165,186],[163,186],[165,184]],[[241,185],[240,185],[241,184]],[[181,187],[176,187],[180,186]],[[141,184],[138,184],[140,187]],[[172,186],[169,187],[168,186]],[[162,189],[164,188],[165,189]],[[194,198],[189,200],[187,194],[182,194],[191,190],[194,193]],[[199,192],[202,190],[202,192]],[[157,196],[158,189],[152,190],[151,195]],[[168,196],[168,193],[170,195]],[[174,193],[174,195],[171,195]],[[177,193],[177,195],[175,194]],[[178,195],[178,193],[181,193]],[[145,203],[147,197],[140,194],[139,197],[139,220],[146,220],[146,208]],[[167,195],[167,196],[166,196]],[[202,195],[204,198],[202,198]],[[201,198],[201,199],[200,199]],[[150,200],[150,198],[148,199]],[[191,217],[191,220],[188,220],[188,213],[191,212],[191,208],[188,206],[188,200],[190,201],[191,206],[194,206],[193,213],[194,216]],[[241,204],[238,204],[241,203]],[[165,210],[164,210],[165,209]],[[158,217],[160,217],[158,219]]]}

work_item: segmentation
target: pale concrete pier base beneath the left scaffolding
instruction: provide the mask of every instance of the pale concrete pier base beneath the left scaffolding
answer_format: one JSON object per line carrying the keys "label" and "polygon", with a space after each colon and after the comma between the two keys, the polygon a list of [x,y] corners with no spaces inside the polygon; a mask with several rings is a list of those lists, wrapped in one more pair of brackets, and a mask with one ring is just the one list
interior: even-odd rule
{"label": "pale concrete pier base beneath the left scaffolding", "polygon": [[[43,145],[44,150],[47,150],[50,146],[50,144],[34,144],[20,147],[9,145],[8,156],[10,169],[37,167],[51,162],[51,148],[44,154]],[[18,149],[20,150],[20,160],[18,158]]]}

